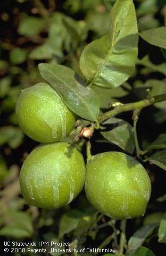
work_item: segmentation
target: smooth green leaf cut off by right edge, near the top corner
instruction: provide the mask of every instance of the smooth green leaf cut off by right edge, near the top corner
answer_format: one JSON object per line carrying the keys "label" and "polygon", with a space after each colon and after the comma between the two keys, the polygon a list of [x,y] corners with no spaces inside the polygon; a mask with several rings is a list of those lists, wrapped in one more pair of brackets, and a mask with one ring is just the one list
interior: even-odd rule
{"label": "smooth green leaf cut off by right edge, near the top corner", "polygon": [[146,42],[166,49],[166,27],[153,28],[139,33]]}

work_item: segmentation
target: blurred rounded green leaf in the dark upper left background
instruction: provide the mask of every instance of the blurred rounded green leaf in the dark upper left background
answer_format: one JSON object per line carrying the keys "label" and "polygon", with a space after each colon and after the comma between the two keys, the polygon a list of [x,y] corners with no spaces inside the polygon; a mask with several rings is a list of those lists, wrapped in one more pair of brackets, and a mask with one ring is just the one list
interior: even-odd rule
{"label": "blurred rounded green leaf in the dark upper left background", "polygon": [[23,17],[19,23],[18,33],[23,36],[35,36],[38,35],[45,26],[45,20],[43,18],[36,17]]}

